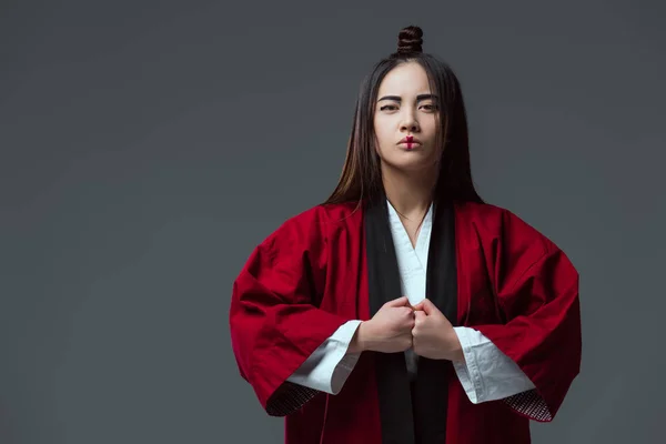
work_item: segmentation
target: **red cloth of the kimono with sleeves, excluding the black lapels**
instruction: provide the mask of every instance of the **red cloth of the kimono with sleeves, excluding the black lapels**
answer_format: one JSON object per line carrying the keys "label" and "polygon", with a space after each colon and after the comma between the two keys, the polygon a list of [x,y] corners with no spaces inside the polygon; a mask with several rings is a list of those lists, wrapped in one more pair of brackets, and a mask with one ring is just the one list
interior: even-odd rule
{"label": "red cloth of the kimono with sleeves, excluding the black lapels", "polygon": [[[372,354],[341,393],[285,382],[344,322],[369,319],[363,212],[320,205],[286,221],[252,253],[233,286],[239,370],[285,442],[381,443]],[[472,404],[450,379],[446,444],[529,443],[529,420],[552,421],[581,363],[578,274],[515,214],[487,204],[455,212],[460,325],[481,331],[536,390]]]}

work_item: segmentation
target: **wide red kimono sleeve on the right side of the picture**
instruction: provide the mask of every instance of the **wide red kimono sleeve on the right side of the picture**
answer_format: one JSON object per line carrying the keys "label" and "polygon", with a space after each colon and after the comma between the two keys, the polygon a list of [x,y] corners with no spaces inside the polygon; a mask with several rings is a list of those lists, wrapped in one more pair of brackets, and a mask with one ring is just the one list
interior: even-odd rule
{"label": "wide red kimono sleeve on the right side of the picture", "polygon": [[578,272],[561,249],[509,212],[493,244],[490,272],[504,323],[474,329],[535,385],[504,402],[531,420],[551,422],[581,369]]}

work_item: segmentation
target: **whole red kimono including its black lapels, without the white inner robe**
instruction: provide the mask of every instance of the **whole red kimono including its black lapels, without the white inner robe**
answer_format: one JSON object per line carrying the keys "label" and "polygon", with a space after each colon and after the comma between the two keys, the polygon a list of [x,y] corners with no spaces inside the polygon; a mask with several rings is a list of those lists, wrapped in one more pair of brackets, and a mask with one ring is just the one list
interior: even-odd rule
{"label": "whole red kimono including its black lapels, without the white inner robe", "polygon": [[317,205],[280,226],[233,285],[232,347],[289,444],[526,444],[529,420],[552,421],[581,364],[578,273],[513,213],[441,204],[427,294],[453,325],[480,331],[535,390],[472,404],[448,361],[421,359],[411,384],[404,354],[364,352],[337,395],[287,377],[350,320],[400,297],[382,205]]}

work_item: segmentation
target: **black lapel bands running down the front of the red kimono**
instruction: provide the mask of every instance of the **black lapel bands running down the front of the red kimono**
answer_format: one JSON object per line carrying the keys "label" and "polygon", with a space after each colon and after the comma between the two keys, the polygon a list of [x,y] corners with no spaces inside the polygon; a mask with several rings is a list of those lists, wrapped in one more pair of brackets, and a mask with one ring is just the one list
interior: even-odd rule
{"label": "black lapel bands running down the front of the red kimono", "polygon": [[[401,297],[400,272],[386,199],[366,203],[364,213],[370,314]],[[426,297],[456,325],[457,279],[453,205],[434,206],[427,256]],[[450,361],[418,357],[410,382],[404,353],[375,353],[383,444],[444,444]]]}

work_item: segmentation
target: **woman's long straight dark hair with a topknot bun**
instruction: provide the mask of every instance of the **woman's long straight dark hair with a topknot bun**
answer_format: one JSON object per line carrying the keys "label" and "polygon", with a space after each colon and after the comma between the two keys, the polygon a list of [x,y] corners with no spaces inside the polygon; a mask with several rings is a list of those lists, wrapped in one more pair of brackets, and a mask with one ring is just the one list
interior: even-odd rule
{"label": "woman's long straight dark hair with a topknot bun", "polygon": [[374,200],[384,195],[380,159],[374,149],[373,115],[380,83],[393,68],[405,62],[420,63],[427,73],[431,91],[437,97],[440,121],[438,147],[445,147],[440,161],[440,171],[434,199],[480,202],[472,181],[467,115],[458,79],[453,70],[436,57],[423,53],[423,31],[407,27],[400,31],[397,51],[375,64],[361,85],[354,124],[349,140],[346,159],[340,181],[324,202],[349,203]]}

